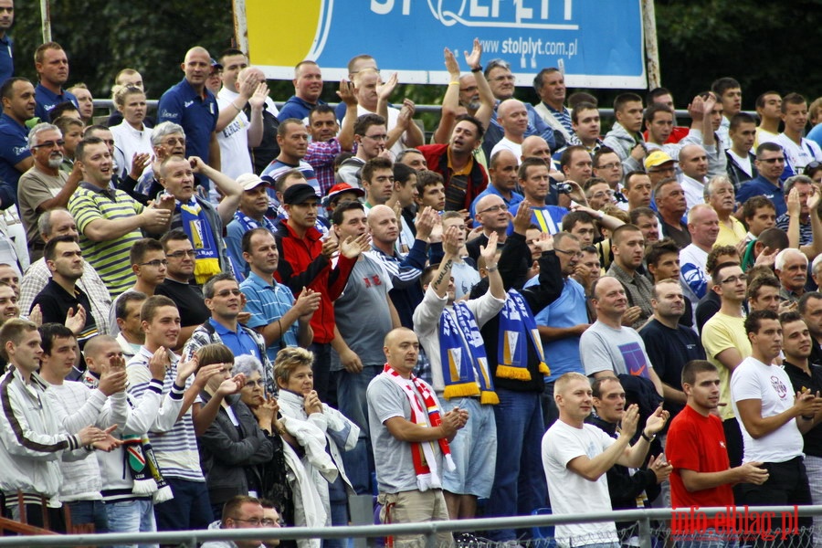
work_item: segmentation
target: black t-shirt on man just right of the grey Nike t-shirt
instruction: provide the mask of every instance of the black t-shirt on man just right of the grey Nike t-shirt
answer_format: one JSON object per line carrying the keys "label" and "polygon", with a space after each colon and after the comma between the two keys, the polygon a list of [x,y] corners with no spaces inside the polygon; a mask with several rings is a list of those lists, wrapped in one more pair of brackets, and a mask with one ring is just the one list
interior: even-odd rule
{"label": "black t-shirt on man just right of the grey Nike t-shirt", "polygon": [[[639,332],[645,342],[648,359],[666,385],[682,390],[682,368],[690,360],[704,360],[705,349],[702,348],[700,336],[687,327],[670,329],[658,320],[648,321]],[[681,404],[665,402],[671,418],[682,410]]]}

